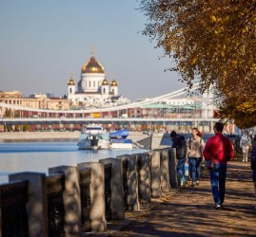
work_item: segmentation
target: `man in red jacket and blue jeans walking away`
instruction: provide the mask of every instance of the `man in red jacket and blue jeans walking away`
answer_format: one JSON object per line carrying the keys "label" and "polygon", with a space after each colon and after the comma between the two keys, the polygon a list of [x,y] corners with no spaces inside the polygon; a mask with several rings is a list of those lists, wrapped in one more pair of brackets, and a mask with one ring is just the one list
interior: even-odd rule
{"label": "man in red jacket and blue jeans walking away", "polygon": [[234,156],[232,142],[228,137],[223,136],[223,129],[222,122],[215,123],[215,136],[207,140],[203,152],[206,160],[214,160],[214,166],[209,171],[209,176],[215,210],[223,207],[226,191],[226,162]]}

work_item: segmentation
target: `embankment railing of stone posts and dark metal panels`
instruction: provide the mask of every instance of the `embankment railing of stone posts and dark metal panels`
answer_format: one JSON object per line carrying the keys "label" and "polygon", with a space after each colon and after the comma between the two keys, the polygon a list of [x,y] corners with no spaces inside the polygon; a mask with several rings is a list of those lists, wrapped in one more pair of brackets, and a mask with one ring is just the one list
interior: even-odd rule
{"label": "embankment railing of stone posts and dark metal panels", "polygon": [[[0,237],[105,231],[177,187],[175,149],[120,155],[46,173],[12,173],[0,185]],[[15,234],[15,233],[18,233]]]}

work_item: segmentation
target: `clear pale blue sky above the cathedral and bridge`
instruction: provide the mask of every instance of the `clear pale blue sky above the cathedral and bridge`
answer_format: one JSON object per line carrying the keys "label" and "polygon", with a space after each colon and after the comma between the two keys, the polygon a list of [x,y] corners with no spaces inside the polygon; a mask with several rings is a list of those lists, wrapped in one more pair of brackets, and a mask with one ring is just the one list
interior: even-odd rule
{"label": "clear pale blue sky above the cathedral and bridge", "polygon": [[0,0],[0,90],[67,94],[78,82],[90,46],[130,100],[185,86],[165,72],[170,59],[140,33],[147,18],[136,0]]}

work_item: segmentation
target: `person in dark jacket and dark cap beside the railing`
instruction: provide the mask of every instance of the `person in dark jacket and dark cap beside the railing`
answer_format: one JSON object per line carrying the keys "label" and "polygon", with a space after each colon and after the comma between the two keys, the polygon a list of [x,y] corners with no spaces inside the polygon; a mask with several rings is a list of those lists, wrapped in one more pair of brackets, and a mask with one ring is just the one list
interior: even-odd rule
{"label": "person in dark jacket and dark cap beside the railing", "polygon": [[186,141],[185,137],[176,134],[175,131],[170,133],[170,140],[172,141],[171,147],[176,149],[177,163],[177,180],[178,186],[183,187],[187,185],[187,175],[185,173],[185,162],[186,162]]}

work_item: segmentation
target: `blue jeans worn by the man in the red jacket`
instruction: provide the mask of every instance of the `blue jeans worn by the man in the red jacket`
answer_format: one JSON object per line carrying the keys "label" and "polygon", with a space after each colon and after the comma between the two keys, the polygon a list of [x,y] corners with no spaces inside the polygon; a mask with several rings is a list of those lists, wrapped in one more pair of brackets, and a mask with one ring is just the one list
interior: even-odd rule
{"label": "blue jeans worn by the man in the red jacket", "polygon": [[222,205],[225,198],[226,164],[214,164],[209,176],[213,200],[216,205]]}

